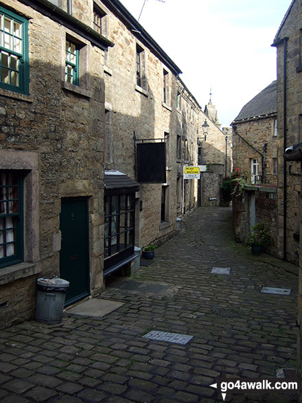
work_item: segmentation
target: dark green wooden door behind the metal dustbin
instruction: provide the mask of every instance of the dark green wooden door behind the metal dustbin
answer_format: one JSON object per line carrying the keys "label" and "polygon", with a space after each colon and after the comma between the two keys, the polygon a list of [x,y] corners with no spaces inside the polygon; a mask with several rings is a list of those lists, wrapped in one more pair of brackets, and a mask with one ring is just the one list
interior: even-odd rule
{"label": "dark green wooden door behind the metal dustbin", "polygon": [[86,198],[62,198],[60,214],[62,246],[60,277],[70,286],[65,303],[69,305],[89,295],[89,230]]}

